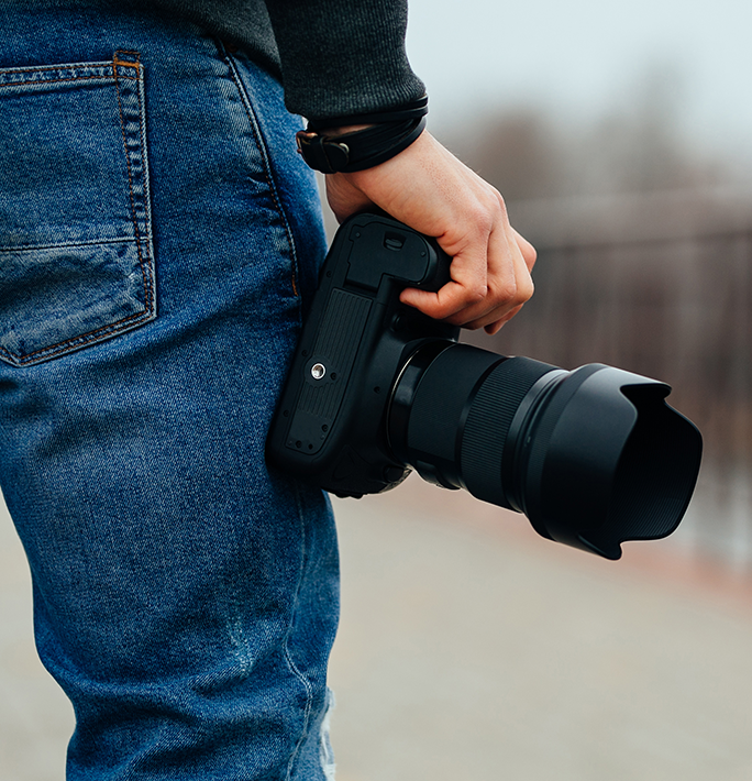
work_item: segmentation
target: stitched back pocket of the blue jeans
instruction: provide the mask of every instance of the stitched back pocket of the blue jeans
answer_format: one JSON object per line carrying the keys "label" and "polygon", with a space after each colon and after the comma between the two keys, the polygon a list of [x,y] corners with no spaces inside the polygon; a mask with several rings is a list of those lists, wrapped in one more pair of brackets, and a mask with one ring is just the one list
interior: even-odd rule
{"label": "stitched back pocket of the blue jeans", "polygon": [[47,361],[156,317],[143,66],[0,68],[0,359]]}

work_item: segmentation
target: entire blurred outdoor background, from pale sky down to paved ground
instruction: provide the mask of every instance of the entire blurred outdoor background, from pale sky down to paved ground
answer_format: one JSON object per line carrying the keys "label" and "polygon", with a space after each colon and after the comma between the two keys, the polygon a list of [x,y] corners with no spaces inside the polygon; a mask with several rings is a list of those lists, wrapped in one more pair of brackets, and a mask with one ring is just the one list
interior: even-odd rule
{"label": "entire blurred outdoor background, from pale sky down to paved ground", "polygon": [[[539,251],[505,354],[668,382],[705,437],[685,521],[618,563],[411,477],[335,503],[340,781],[752,779],[752,7],[411,0],[430,128]],[[0,524],[0,778],[63,778]]]}

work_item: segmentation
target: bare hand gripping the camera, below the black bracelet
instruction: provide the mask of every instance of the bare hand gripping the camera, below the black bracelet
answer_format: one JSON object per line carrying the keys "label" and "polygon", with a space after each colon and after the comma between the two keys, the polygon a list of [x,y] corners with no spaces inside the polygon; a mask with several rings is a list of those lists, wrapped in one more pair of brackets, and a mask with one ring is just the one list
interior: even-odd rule
{"label": "bare hand gripping the camera, below the black bracelet", "polygon": [[535,250],[509,224],[501,195],[425,131],[381,165],[328,175],[327,198],[340,222],[377,206],[436,239],[452,282],[400,295],[429,317],[496,333],[532,295]]}

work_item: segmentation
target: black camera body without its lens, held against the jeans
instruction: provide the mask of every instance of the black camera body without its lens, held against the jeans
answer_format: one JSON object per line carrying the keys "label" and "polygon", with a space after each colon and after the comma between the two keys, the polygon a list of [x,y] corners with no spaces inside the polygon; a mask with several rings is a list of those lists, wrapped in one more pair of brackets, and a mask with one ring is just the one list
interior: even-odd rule
{"label": "black camera body without its lens, held against the jeans", "polygon": [[450,263],[433,240],[387,216],[358,215],[338,231],[272,425],[273,464],[338,496],[379,493],[407,477],[388,441],[391,388],[421,345],[456,343],[460,329],[399,294],[439,290]]}

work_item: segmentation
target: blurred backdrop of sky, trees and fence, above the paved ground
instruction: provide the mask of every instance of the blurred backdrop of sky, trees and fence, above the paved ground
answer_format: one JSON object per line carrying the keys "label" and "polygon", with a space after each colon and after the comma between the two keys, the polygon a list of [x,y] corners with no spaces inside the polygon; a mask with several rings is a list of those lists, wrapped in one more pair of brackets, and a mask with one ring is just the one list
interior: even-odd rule
{"label": "blurred backdrop of sky, trees and fence, above the paved ground", "polygon": [[[440,11],[439,11],[440,9]],[[668,382],[705,463],[675,544],[752,565],[752,7],[741,0],[411,4],[432,130],[537,246],[493,340]]]}

